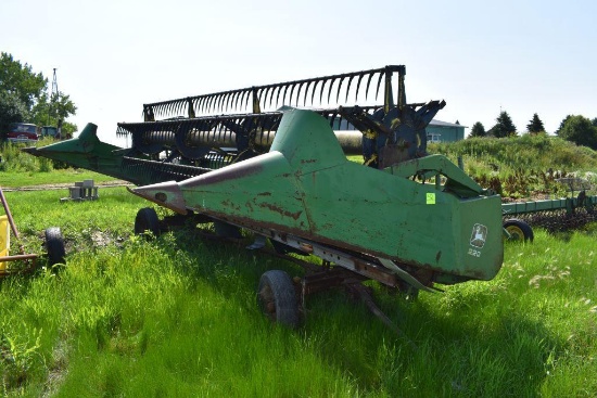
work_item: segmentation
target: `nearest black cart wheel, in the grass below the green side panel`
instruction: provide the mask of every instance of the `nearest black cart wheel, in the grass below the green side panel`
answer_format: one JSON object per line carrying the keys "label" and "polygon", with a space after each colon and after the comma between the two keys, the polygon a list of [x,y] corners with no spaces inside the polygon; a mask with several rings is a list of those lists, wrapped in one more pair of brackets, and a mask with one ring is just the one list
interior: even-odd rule
{"label": "nearest black cart wheel, in the grass below the green side panel", "polygon": [[272,321],[292,329],[298,326],[294,284],[284,271],[271,270],[262,275],[257,288],[257,303]]}

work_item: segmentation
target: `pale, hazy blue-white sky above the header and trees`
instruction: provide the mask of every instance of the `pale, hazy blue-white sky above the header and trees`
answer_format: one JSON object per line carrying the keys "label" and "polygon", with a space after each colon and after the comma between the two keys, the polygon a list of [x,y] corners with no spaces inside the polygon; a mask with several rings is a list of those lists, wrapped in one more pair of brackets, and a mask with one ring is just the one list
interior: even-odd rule
{"label": "pale, hazy blue-white sky above the header and trees", "polygon": [[2,0],[0,51],[78,106],[69,121],[140,121],[143,103],[406,65],[408,102],[519,132],[569,114],[597,117],[597,2]]}

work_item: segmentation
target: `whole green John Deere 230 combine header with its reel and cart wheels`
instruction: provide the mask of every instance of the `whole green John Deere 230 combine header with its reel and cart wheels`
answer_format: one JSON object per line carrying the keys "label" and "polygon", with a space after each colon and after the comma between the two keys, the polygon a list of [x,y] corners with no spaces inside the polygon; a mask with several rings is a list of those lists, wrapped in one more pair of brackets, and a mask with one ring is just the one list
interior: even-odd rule
{"label": "whole green John Deere 230 combine header with its reel and cart wheels", "polygon": [[[198,223],[213,222],[218,234],[252,232],[251,248],[269,240],[307,270],[298,284],[268,271],[257,292],[272,319],[294,326],[295,297],[323,287],[364,295],[360,283],[376,280],[433,292],[435,283],[491,280],[501,267],[500,197],[446,157],[427,153],[425,126],[445,102],[407,104],[404,77],[404,66],[386,66],[145,104],[144,121],[118,124],[118,133],[132,137],[129,149],[102,143],[89,124],[76,139],[26,151],[141,185],[131,192]],[[358,98],[376,79],[376,92],[384,85],[382,104],[347,103],[352,87]],[[292,107],[331,101],[332,93],[343,103]],[[205,114],[250,104],[246,114]],[[283,106],[262,112],[270,104]],[[174,117],[182,110],[187,116]],[[365,165],[347,159],[354,153]],[[135,221],[136,232],[166,228],[153,208]],[[323,266],[289,253],[317,256]]]}

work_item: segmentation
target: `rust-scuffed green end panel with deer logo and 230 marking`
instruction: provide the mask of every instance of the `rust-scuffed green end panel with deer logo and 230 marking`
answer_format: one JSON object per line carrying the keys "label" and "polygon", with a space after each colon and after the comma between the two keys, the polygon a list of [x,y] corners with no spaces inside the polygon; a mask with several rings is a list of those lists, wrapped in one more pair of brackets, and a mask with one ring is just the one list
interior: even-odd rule
{"label": "rust-scuffed green end panel with deer logo and 230 marking", "polygon": [[503,261],[499,196],[481,194],[443,157],[418,162],[420,171],[437,169],[458,190],[403,175],[416,167],[393,175],[348,162],[321,116],[290,110],[267,154],[135,192],[182,213],[189,208],[419,267],[444,283],[450,282],[446,275],[492,279]]}

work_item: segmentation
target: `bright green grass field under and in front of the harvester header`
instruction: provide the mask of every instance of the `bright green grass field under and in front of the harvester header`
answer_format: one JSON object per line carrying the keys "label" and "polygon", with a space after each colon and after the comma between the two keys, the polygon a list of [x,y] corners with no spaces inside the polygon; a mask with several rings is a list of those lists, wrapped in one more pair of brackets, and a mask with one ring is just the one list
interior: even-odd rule
{"label": "bright green grass field under and in front of the harvester header", "polygon": [[491,282],[415,301],[371,284],[401,335],[342,291],[309,297],[292,331],[262,316],[255,291],[264,271],[296,266],[198,230],[134,236],[148,203],[124,188],[66,195],[5,193],[26,251],[59,226],[67,266],[1,282],[3,396],[597,395],[595,226],[507,244]]}

